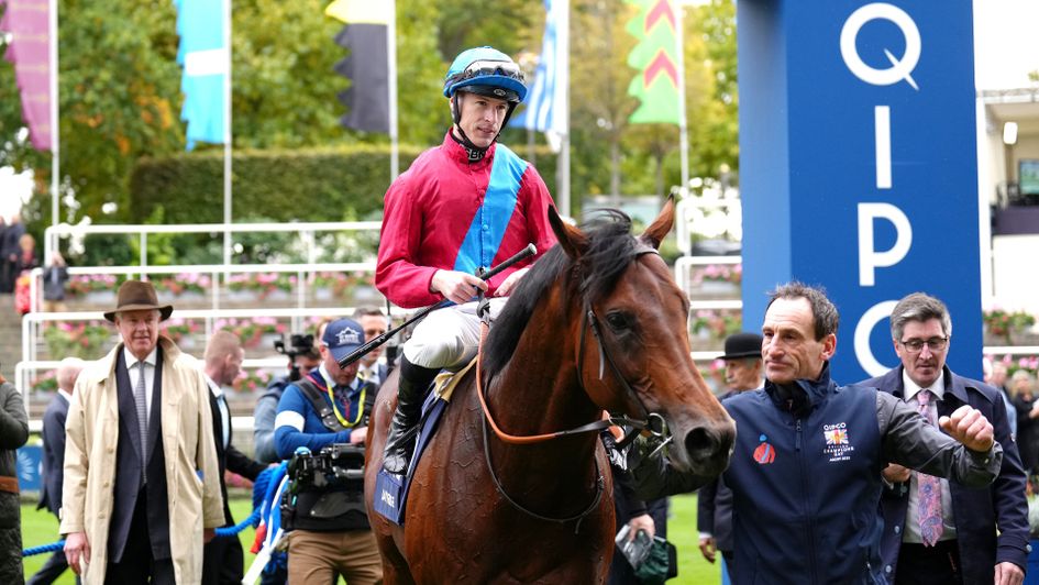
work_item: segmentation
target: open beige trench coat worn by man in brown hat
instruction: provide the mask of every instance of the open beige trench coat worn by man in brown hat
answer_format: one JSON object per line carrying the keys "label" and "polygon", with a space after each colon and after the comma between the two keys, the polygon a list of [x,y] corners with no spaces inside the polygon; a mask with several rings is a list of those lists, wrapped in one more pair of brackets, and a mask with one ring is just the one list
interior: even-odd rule
{"label": "open beige trench coat worn by man in brown hat", "polygon": [[[169,498],[169,550],[178,584],[202,578],[202,528],[223,526],[217,448],[213,443],[209,386],[198,361],[159,336],[163,347],[163,455]],[[87,366],[76,380],[68,409],[62,534],[87,533],[90,563],[84,583],[104,582],[108,530],[115,485],[119,399],[115,357]],[[202,479],[196,472],[201,472]]]}

